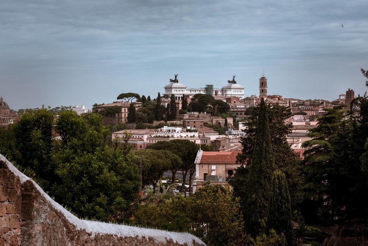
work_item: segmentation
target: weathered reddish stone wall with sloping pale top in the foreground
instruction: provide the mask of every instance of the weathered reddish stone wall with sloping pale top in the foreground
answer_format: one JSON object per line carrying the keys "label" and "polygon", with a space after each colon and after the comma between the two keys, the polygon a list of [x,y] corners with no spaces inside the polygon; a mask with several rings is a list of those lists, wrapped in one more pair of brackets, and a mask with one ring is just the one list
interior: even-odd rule
{"label": "weathered reddish stone wall with sloping pale top in the foreground", "polygon": [[0,154],[0,245],[205,245],[189,233],[78,219]]}

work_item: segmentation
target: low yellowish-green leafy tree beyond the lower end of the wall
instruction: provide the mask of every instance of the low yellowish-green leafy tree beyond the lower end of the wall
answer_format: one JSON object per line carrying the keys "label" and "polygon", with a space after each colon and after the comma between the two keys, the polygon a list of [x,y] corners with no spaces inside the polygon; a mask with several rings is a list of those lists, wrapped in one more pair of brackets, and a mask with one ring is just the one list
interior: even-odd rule
{"label": "low yellowish-green leafy tree beyond the lower end of the wall", "polygon": [[141,205],[134,224],[189,232],[206,245],[243,245],[243,218],[229,187],[209,185],[188,198],[176,197],[158,206]]}

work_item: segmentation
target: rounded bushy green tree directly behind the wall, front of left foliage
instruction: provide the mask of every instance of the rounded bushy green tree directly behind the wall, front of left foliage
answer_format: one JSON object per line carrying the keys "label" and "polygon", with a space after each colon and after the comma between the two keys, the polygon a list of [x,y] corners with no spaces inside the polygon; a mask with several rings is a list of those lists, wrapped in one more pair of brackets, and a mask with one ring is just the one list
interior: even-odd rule
{"label": "rounded bushy green tree directly behind the wall, front of left foliage", "polygon": [[137,166],[128,164],[121,150],[99,147],[84,153],[75,148],[76,141],[53,155],[62,182],[53,184],[52,194],[81,217],[126,221],[138,199]]}

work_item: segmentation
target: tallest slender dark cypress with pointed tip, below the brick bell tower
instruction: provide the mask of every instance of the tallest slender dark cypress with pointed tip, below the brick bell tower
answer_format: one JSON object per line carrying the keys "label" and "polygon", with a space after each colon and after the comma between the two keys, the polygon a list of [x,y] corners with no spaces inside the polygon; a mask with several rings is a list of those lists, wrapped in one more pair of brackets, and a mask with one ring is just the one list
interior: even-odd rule
{"label": "tallest slender dark cypress with pointed tip, below the brick bell tower", "polygon": [[259,104],[253,159],[248,179],[245,221],[247,231],[256,236],[261,229],[261,221],[266,218],[271,194],[271,179],[274,166],[270,132],[268,127],[267,105]]}

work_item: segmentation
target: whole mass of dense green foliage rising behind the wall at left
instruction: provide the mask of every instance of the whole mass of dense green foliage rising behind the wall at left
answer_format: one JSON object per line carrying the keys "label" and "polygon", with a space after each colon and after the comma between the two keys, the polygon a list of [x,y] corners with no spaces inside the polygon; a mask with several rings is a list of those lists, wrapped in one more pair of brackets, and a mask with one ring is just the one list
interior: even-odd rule
{"label": "whole mass of dense green foliage rising behind the wall at left", "polygon": [[55,122],[41,108],[0,131],[0,151],[80,217],[124,222],[138,199],[138,168],[125,158],[130,148],[109,146],[102,119],[64,110]]}

